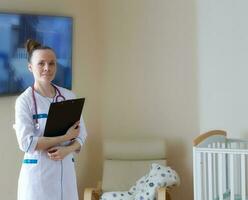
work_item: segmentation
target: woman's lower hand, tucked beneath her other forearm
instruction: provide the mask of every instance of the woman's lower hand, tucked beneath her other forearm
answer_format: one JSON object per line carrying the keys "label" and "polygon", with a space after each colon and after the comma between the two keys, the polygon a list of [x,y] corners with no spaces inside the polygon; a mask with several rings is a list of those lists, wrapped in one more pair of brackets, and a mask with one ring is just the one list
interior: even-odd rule
{"label": "woman's lower hand, tucked beneath her other forearm", "polygon": [[52,147],[47,150],[47,155],[51,160],[63,160],[69,153],[66,146]]}

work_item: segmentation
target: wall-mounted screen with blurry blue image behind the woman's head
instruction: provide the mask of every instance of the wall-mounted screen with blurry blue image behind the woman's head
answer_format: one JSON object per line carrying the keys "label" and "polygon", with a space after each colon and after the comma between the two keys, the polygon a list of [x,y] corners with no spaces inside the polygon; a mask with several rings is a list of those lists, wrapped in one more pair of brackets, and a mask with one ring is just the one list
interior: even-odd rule
{"label": "wall-mounted screen with blurry blue image behind the woman's head", "polygon": [[18,94],[33,85],[24,44],[35,39],[54,49],[54,83],[72,86],[72,17],[0,13],[0,95]]}

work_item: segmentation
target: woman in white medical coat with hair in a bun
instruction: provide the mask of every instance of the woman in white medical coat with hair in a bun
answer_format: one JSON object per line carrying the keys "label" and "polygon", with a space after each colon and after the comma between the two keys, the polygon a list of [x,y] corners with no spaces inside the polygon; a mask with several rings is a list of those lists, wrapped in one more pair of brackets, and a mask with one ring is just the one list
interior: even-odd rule
{"label": "woman in white medical coat with hair in a bun", "polygon": [[17,98],[15,105],[16,136],[25,152],[18,200],[78,200],[73,152],[78,152],[86,139],[83,119],[63,136],[43,136],[51,102],[73,99],[75,95],[52,83],[57,68],[50,47],[28,40],[26,49],[34,85]]}

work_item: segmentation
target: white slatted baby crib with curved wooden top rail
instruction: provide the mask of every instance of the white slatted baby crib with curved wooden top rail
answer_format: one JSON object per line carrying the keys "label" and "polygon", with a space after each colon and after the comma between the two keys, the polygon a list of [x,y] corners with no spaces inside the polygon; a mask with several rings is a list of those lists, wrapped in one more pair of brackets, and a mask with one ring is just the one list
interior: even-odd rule
{"label": "white slatted baby crib with curved wooden top rail", "polygon": [[248,200],[248,140],[214,130],[193,145],[194,200]]}

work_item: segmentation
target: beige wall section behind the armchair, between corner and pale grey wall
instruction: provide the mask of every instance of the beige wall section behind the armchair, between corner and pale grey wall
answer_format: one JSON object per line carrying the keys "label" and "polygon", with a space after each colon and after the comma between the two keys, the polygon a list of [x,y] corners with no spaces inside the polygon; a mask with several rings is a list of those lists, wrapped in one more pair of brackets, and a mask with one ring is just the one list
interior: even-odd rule
{"label": "beige wall section behind the armchair, between corner and pale grey wall", "polygon": [[192,140],[198,131],[194,1],[101,0],[103,137],[161,137],[193,199]]}

